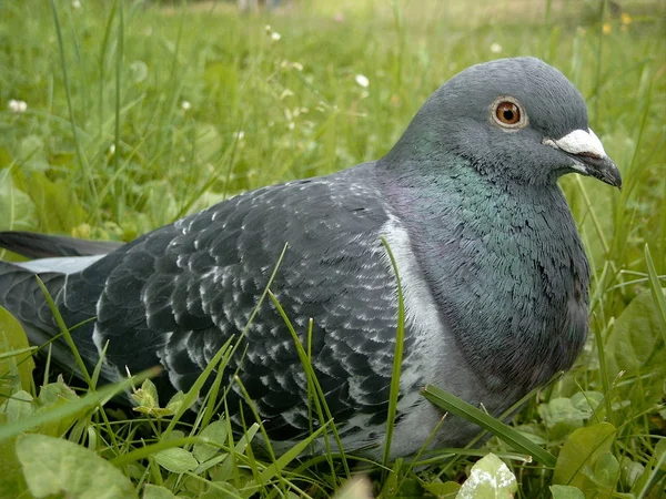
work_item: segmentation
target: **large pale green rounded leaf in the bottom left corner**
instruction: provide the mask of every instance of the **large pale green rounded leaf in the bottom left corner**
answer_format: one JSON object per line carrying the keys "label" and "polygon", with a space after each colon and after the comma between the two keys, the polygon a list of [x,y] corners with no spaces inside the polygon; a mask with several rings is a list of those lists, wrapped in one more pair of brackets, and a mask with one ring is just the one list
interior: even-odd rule
{"label": "large pale green rounded leaf in the bottom left corner", "polygon": [[92,450],[61,438],[23,435],[17,456],[30,492],[38,498],[129,499],[137,492],[122,471]]}

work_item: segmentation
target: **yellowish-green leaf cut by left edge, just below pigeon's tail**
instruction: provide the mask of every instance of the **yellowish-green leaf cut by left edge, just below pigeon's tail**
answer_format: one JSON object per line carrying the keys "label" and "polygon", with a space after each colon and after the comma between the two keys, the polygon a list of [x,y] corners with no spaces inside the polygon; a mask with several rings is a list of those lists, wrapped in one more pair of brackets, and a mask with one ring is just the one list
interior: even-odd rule
{"label": "yellowish-green leaf cut by left edge, just below pigeon's tail", "polygon": [[0,354],[7,354],[0,358],[0,400],[13,390],[30,390],[34,360],[28,336],[21,324],[1,306]]}

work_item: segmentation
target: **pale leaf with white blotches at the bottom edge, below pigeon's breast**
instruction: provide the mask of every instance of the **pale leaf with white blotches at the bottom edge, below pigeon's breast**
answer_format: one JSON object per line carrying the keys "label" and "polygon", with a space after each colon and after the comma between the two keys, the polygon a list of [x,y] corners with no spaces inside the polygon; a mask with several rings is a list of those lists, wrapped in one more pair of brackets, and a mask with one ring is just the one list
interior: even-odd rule
{"label": "pale leaf with white blotches at the bottom edge, below pigeon's breast", "polygon": [[456,499],[509,498],[518,490],[516,477],[494,454],[483,457],[472,467]]}

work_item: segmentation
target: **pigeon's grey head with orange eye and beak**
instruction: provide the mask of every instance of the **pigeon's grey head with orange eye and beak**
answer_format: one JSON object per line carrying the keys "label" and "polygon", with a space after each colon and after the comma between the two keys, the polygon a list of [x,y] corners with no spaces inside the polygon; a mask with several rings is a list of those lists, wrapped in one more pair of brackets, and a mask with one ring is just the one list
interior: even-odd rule
{"label": "pigeon's grey head with orange eye and beak", "polygon": [[622,186],[617,166],[589,128],[578,90],[534,58],[486,62],[453,77],[384,161],[433,165],[451,154],[495,181],[554,184],[576,172]]}

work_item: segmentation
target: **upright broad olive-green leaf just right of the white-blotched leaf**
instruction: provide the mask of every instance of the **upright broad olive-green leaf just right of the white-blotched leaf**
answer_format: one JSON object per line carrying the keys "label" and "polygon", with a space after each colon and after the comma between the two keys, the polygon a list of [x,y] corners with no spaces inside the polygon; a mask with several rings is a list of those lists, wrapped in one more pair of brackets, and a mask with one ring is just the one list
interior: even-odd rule
{"label": "upright broad olive-green leaf just right of the white-blotched leaf", "polygon": [[584,492],[589,487],[594,488],[591,483],[594,466],[610,450],[614,435],[615,427],[609,422],[599,422],[575,430],[559,451],[553,483],[574,486]]}

